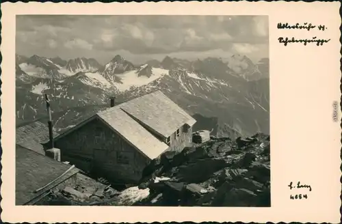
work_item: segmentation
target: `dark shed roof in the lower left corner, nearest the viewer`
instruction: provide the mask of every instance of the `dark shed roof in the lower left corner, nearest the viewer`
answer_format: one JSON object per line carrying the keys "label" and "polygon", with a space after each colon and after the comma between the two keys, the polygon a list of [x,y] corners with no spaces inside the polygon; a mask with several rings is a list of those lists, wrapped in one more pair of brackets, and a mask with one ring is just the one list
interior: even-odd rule
{"label": "dark shed roof in the lower left corner, nearest the viewer", "polygon": [[[40,197],[79,171],[74,168],[62,178],[55,180],[70,167],[71,165],[60,163],[21,145],[16,145],[16,205],[29,204],[30,201]],[[38,193],[34,192],[49,182],[51,182],[49,186]]]}

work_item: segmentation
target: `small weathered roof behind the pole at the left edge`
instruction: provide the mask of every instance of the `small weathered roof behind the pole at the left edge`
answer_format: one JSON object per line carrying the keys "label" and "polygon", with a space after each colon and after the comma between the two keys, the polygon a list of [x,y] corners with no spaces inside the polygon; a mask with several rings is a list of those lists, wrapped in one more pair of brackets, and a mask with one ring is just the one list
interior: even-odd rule
{"label": "small weathered roof behind the pole at the left edge", "polygon": [[[57,135],[57,132],[53,132],[54,137]],[[34,150],[44,155],[44,148],[41,144],[47,142],[49,142],[49,128],[42,122],[32,122],[16,128],[16,143],[29,150]]]}

